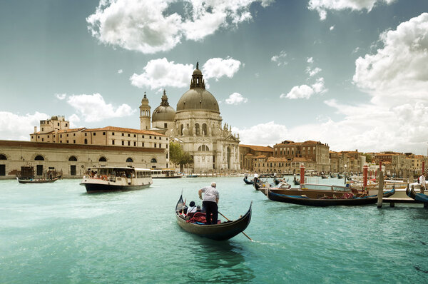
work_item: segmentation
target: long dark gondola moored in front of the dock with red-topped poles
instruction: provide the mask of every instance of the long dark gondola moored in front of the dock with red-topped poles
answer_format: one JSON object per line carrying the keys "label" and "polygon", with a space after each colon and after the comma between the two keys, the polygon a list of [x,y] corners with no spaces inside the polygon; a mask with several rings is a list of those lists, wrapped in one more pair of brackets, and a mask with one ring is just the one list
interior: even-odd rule
{"label": "long dark gondola moored in front of the dock with red-topped poles", "polygon": [[[292,203],[305,206],[360,206],[366,204],[374,204],[377,202],[377,195],[374,196],[365,196],[365,197],[349,197],[350,193],[342,193],[339,197],[345,197],[345,194],[348,195],[348,198],[309,198],[307,194],[301,195],[287,195],[282,193],[275,193],[270,189],[267,190],[267,198],[271,201],[280,201],[284,203]],[[384,192],[383,197],[387,198],[392,196],[395,193],[395,188],[392,188],[391,191]]]}

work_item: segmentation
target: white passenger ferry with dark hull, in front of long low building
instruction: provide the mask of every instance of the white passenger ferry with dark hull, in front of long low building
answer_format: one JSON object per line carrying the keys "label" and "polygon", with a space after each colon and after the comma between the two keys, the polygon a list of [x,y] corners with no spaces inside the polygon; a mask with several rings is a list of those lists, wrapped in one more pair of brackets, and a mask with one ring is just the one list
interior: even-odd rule
{"label": "white passenger ferry with dark hull, in front of long low building", "polygon": [[92,167],[80,183],[88,193],[133,191],[148,188],[153,183],[149,168]]}

